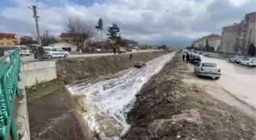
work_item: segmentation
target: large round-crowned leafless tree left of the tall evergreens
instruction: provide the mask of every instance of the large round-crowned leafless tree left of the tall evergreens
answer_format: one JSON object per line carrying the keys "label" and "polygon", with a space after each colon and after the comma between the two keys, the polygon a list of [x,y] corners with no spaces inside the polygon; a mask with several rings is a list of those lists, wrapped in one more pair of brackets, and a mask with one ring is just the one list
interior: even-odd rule
{"label": "large round-crowned leafless tree left of the tall evergreens", "polygon": [[96,32],[93,26],[79,18],[69,18],[66,20],[66,33],[70,33],[73,42],[77,45],[78,51],[86,48],[87,42],[95,36]]}

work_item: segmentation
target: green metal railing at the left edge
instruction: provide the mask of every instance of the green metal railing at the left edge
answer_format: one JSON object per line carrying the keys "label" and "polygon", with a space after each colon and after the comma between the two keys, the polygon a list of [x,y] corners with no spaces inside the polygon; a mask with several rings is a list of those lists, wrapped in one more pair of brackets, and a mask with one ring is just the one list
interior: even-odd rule
{"label": "green metal railing at the left edge", "polygon": [[0,58],[0,139],[18,139],[14,120],[14,102],[19,96],[20,50],[16,49]]}

